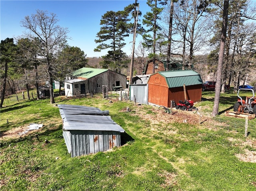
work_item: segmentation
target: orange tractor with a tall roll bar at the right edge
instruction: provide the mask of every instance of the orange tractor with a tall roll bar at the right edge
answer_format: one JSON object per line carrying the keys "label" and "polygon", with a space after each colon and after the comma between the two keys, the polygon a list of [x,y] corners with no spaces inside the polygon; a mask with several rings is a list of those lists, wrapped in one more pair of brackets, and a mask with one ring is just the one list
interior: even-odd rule
{"label": "orange tractor with a tall roll bar at the right edge", "polygon": [[252,96],[247,97],[243,100],[241,96],[239,96],[240,91],[248,91],[249,89],[239,89],[237,96],[238,101],[234,104],[234,111],[235,112],[241,112],[241,113],[253,113],[256,114],[256,98],[254,96],[254,90],[250,89],[252,91]]}

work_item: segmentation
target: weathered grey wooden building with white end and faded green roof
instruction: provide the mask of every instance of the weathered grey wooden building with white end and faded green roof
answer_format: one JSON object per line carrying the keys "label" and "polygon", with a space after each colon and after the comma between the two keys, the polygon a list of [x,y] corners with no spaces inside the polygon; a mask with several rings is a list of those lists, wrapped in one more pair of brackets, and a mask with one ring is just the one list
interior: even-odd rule
{"label": "weathered grey wooden building with white end and faded green roof", "polygon": [[112,91],[112,87],[126,88],[126,76],[108,69],[83,67],[64,81],[66,96],[101,93],[102,86],[108,87],[108,91]]}

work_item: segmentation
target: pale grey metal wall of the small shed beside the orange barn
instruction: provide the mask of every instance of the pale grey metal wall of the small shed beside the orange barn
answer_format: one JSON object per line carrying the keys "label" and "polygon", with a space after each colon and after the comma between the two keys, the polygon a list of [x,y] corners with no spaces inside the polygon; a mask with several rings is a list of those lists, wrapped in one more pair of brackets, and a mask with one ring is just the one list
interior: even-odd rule
{"label": "pale grey metal wall of the small shed beside the orange barn", "polygon": [[130,100],[141,104],[148,104],[148,84],[130,85]]}

